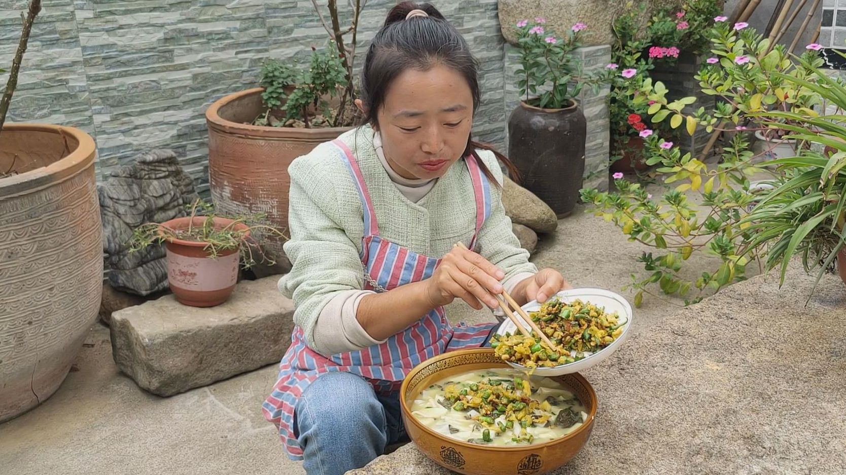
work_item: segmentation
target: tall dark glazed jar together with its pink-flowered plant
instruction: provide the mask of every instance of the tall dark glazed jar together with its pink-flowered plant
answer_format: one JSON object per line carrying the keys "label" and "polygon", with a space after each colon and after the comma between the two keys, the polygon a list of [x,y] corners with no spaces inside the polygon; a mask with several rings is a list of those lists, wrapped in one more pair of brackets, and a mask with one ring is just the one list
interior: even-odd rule
{"label": "tall dark glazed jar together with its pink-flowered plant", "polygon": [[575,97],[585,85],[598,90],[610,70],[582,74],[573,52],[585,24],[556,35],[544,29],[545,23],[543,18],[524,19],[515,26],[517,85],[524,99],[508,117],[508,156],[523,186],[561,218],[573,211],[585,172],[587,126]]}

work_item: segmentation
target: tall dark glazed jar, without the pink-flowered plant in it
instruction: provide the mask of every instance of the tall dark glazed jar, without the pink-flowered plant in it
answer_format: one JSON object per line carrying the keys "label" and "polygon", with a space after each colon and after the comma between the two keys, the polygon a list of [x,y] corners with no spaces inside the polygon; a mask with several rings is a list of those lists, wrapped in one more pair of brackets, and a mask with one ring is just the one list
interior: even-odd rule
{"label": "tall dark glazed jar, without the pink-flowered plant in it", "polygon": [[522,185],[556,216],[573,212],[585,174],[587,123],[578,104],[541,109],[525,102],[508,118],[508,158]]}

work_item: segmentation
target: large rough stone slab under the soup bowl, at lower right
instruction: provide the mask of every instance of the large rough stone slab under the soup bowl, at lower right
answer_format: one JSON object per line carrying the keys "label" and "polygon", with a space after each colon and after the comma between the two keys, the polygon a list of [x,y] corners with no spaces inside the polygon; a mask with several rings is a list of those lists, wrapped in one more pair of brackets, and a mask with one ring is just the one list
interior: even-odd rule
{"label": "large rough stone slab under the soup bowl, at lower right", "polygon": [[[846,291],[824,276],[805,307],[814,280],[792,265],[781,288],[756,276],[653,325],[635,315],[631,339],[583,373],[591,439],[551,473],[842,473]],[[348,473],[452,472],[409,444]]]}

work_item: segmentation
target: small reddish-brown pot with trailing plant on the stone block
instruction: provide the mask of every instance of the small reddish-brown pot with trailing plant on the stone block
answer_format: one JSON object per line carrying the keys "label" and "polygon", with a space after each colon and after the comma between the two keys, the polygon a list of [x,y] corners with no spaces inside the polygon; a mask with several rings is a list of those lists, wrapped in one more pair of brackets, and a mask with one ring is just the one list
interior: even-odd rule
{"label": "small reddish-brown pot with trailing plant on the stone block", "polygon": [[[255,230],[278,238],[284,235],[274,227],[249,224],[263,216],[217,216],[211,205],[200,200],[188,209],[188,216],[137,227],[129,252],[165,243],[168,284],[179,303],[191,307],[220,305],[232,295],[239,263],[244,268],[255,265],[254,253],[268,259],[252,236]],[[272,260],[268,264],[272,265]]]}

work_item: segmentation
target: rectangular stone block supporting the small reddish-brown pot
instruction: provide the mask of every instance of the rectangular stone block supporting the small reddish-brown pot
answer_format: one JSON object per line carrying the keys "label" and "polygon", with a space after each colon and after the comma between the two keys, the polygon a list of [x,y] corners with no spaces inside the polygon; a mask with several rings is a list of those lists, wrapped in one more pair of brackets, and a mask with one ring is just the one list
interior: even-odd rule
{"label": "rectangular stone block supporting the small reddish-brown pot", "polygon": [[167,295],[115,312],[110,330],[118,369],[141,388],[172,396],[277,363],[294,328],[294,303],[277,281],[241,281],[226,303],[212,308]]}

